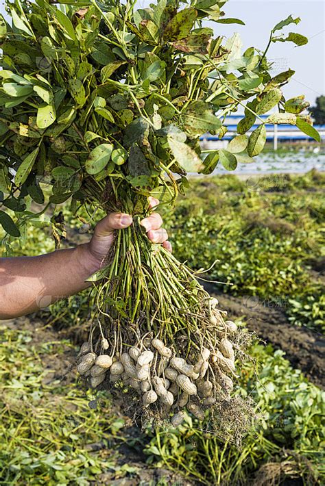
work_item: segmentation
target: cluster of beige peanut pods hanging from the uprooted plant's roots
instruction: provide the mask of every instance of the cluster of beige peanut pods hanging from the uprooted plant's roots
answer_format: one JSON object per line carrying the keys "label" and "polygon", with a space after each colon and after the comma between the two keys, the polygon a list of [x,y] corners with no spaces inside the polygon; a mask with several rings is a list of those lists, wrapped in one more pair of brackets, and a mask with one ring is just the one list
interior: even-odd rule
{"label": "cluster of beige peanut pods hanging from the uprooted plant's roots", "polygon": [[[228,320],[225,324],[226,335],[237,331],[234,322]],[[108,353],[108,346],[104,348],[104,353]],[[217,393],[223,390],[228,395],[232,390],[229,375],[235,374],[234,350],[228,337],[219,342],[217,349],[202,348],[195,363],[177,356],[157,337],[145,339],[137,346],[124,345],[123,351],[97,356],[91,344],[85,342],[80,349],[77,372],[93,388],[104,381],[111,383],[110,387],[123,383],[139,394],[143,407],[158,405],[170,409],[174,412],[173,426],[184,420],[185,407],[203,420],[204,409],[215,404]]]}

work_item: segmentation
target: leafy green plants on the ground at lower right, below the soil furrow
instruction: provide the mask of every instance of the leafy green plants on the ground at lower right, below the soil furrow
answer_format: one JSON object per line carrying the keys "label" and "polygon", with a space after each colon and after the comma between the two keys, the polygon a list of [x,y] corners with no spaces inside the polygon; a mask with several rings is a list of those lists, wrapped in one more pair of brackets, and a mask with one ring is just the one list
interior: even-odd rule
{"label": "leafy green plants on the ground at lower right, below the soil furrow", "polygon": [[252,351],[257,381],[252,365],[243,366],[237,394],[256,401],[257,416],[242,448],[215,437],[208,417],[203,423],[188,418],[179,429],[154,434],[146,448],[149,461],[159,459],[163,467],[207,485],[252,484],[252,473],[263,463],[289,461],[304,484],[322,483],[325,393],[293,370],[281,350],[255,346]]}

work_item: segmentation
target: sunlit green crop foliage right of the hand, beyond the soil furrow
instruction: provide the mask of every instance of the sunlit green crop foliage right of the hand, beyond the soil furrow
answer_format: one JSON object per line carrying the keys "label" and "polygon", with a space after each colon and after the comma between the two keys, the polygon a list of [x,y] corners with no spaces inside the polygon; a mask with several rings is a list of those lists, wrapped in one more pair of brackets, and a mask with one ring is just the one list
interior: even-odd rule
{"label": "sunlit green crop foliage right of the hand, beyond the soil furrow", "polygon": [[174,253],[195,270],[218,260],[208,278],[223,282],[221,292],[258,296],[285,307],[293,324],[324,329],[324,285],[313,270],[324,261],[324,182],[313,171],[193,180],[165,214]]}

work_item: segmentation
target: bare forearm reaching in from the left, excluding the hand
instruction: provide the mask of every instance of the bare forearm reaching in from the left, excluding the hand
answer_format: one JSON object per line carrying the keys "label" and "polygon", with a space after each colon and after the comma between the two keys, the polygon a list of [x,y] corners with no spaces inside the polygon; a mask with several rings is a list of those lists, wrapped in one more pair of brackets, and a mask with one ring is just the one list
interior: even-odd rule
{"label": "bare forearm reaching in from the left, excluding the hand", "polygon": [[88,244],[39,257],[0,258],[0,318],[10,319],[46,307],[89,287],[99,270]]}

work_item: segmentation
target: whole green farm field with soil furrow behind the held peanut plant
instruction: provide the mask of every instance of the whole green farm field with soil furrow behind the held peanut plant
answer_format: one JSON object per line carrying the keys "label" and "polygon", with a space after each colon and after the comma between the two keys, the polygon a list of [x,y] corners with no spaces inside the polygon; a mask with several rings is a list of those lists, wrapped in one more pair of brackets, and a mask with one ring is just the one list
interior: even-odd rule
{"label": "whole green farm field with soil furrow behind the held peanut plant", "polygon": [[[322,484],[324,180],[315,170],[195,179],[176,209],[160,210],[176,257],[200,272],[213,266],[202,283],[256,333],[236,389],[256,404],[253,424],[238,411],[241,444],[234,417],[222,437],[190,416],[179,429],[141,431],[106,392],[77,385],[91,306],[82,292],[1,322],[1,484]],[[63,248],[88,240],[68,206],[57,210]],[[49,227],[12,251],[53,251]]]}

